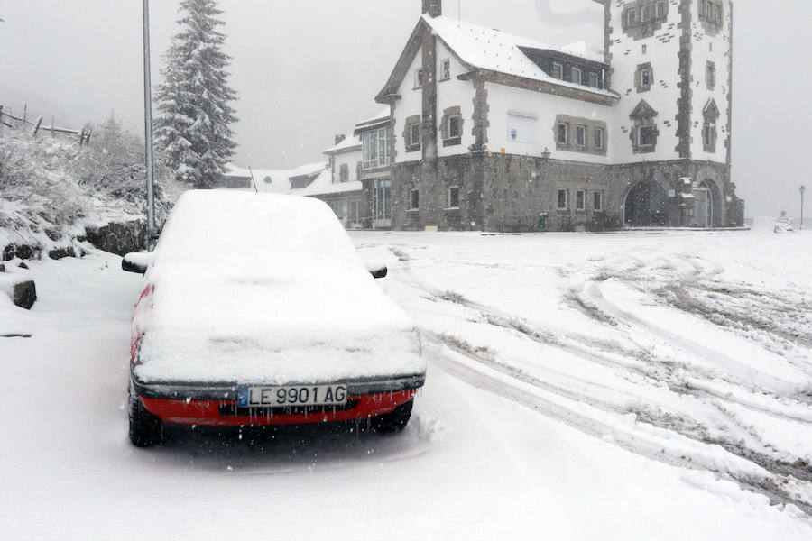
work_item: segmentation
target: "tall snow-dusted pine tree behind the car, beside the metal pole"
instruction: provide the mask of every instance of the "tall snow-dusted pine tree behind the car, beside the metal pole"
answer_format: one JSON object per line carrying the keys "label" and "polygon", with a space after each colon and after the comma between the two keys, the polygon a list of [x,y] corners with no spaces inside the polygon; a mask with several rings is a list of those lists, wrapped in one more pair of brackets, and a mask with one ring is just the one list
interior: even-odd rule
{"label": "tall snow-dusted pine tree behind the car, beside the metal pole", "polygon": [[164,82],[155,97],[155,146],[178,181],[211,188],[236,146],[231,57],[223,52],[225,34],[217,31],[224,23],[215,0],[183,0],[180,13],[182,30],[164,56]]}

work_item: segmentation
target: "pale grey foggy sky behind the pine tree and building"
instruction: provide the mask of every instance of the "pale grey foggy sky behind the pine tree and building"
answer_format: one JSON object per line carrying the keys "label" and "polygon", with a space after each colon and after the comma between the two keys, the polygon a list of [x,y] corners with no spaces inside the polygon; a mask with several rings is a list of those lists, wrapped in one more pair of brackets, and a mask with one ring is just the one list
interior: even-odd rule
{"label": "pale grey foggy sky behind the pine tree and building", "polygon": [[[141,2],[0,0],[0,104],[57,124],[115,111],[143,133]],[[152,0],[152,78],[161,80],[179,0]],[[460,0],[471,23],[560,45],[603,43],[591,0]],[[336,133],[376,115],[374,96],[420,17],[420,0],[221,0],[239,93],[235,163],[325,160]],[[457,0],[444,12],[457,16]],[[734,170],[747,215],[799,214],[808,173],[809,0],[734,2]],[[812,193],[812,192],[810,192]],[[807,197],[812,201],[812,197]],[[807,201],[810,202],[810,201]],[[807,206],[812,215],[812,204]]]}

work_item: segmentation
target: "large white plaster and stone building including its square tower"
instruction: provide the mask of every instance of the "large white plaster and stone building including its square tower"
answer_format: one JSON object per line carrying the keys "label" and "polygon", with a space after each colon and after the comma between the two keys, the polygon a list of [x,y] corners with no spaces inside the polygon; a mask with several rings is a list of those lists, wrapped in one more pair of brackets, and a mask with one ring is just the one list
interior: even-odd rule
{"label": "large white plaster and stone building including its square tower", "polygon": [[732,0],[592,1],[604,5],[603,51],[458,22],[424,2],[376,97],[392,110],[393,229],[742,224]]}

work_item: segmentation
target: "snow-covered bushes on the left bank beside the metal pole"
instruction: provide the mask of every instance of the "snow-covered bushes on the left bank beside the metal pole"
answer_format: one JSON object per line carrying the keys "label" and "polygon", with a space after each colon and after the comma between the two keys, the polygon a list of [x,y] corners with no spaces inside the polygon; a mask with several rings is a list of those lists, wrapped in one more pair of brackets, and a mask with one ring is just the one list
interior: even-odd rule
{"label": "snow-covered bushes on the left bank beside the metal pole", "polygon": [[[18,130],[0,132],[0,250],[11,243],[49,250],[72,243],[87,226],[143,219],[140,143],[113,119],[99,132],[85,146]],[[159,224],[170,208],[162,186],[159,175]]]}

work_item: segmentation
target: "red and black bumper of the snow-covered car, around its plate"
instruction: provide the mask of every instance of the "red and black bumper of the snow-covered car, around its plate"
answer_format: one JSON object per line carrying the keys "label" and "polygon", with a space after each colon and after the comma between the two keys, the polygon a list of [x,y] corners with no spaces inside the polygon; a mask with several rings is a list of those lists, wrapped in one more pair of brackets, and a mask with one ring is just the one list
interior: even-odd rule
{"label": "red and black bumper of the snow-covered car, around its plate", "polygon": [[391,412],[413,399],[425,375],[347,383],[343,406],[239,408],[237,385],[145,384],[132,379],[147,411],[163,421],[198,426],[300,425],[349,421]]}

